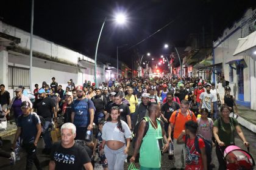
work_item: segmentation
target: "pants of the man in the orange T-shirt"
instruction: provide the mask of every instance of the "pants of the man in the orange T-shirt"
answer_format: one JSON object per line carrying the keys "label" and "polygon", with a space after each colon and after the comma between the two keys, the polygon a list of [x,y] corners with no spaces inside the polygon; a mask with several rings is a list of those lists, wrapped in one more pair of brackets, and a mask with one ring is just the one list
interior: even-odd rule
{"label": "pants of the man in the orange T-shirt", "polygon": [[185,158],[186,158],[186,148],[185,148],[185,144],[177,144],[177,139],[173,140],[173,150],[174,150],[174,158],[175,158],[175,162],[174,162],[174,166],[175,168],[182,168],[182,151],[183,151],[183,159],[185,162]]}

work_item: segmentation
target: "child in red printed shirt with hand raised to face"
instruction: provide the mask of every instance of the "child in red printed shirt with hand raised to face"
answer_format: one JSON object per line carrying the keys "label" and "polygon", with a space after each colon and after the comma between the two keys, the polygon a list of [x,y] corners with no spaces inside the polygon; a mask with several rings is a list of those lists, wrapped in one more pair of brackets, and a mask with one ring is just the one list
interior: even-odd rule
{"label": "child in red printed shirt with hand raised to face", "polygon": [[185,123],[185,131],[183,130],[177,139],[178,143],[185,143],[186,146],[186,163],[185,170],[198,169],[207,170],[207,155],[205,153],[204,140],[198,138],[198,145],[201,154],[196,151],[194,146],[197,132],[197,123],[194,121],[187,121]]}

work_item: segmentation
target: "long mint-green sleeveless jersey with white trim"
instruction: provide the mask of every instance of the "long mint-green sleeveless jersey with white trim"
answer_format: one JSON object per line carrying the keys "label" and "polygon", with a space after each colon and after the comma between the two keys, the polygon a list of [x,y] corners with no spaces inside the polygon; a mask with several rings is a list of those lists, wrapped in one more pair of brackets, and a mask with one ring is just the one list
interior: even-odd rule
{"label": "long mint-green sleeveless jersey with white trim", "polygon": [[149,129],[140,146],[140,165],[147,168],[160,168],[161,151],[158,148],[157,137],[162,137],[162,127],[157,121],[157,129],[154,129],[149,117],[146,118],[149,121]]}

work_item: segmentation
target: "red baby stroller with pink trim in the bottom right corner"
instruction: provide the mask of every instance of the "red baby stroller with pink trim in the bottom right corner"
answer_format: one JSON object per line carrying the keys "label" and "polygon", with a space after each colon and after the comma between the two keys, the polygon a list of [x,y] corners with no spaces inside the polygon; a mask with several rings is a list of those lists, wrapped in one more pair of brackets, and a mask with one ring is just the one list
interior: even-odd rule
{"label": "red baby stroller with pink trim in the bottom right corner", "polygon": [[238,146],[228,146],[224,151],[224,160],[227,170],[253,170],[255,166],[254,158],[251,154]]}

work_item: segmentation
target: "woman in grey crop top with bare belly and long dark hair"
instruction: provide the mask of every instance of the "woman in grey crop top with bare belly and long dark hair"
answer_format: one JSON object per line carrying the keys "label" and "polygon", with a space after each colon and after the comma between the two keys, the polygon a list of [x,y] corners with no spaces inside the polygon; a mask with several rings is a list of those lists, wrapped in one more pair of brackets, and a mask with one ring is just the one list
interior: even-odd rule
{"label": "woman in grey crop top with bare belly and long dark hair", "polygon": [[113,106],[110,117],[102,129],[102,149],[108,162],[108,169],[124,169],[124,161],[130,146],[132,132],[126,122],[120,119],[119,107]]}

